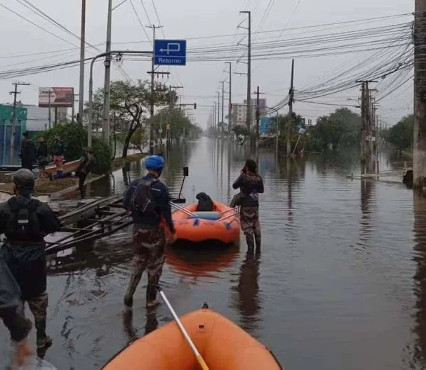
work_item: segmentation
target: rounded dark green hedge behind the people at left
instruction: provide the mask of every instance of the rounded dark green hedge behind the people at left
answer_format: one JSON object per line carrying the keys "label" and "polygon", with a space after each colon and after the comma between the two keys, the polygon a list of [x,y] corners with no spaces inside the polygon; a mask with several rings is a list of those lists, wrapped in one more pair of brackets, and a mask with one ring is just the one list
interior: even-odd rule
{"label": "rounded dark green hedge behind the people at left", "polygon": [[[58,125],[50,128],[50,130],[37,133],[37,135],[33,136],[33,139],[36,140],[39,136],[43,136],[48,144],[49,152],[51,152],[55,135],[59,135],[60,140],[65,145],[65,160],[73,161],[82,157],[84,147],[87,147],[87,130],[77,123],[58,123]],[[92,138],[92,147],[94,158],[97,162],[93,172],[96,174],[108,172],[112,164],[111,145],[98,138]]]}

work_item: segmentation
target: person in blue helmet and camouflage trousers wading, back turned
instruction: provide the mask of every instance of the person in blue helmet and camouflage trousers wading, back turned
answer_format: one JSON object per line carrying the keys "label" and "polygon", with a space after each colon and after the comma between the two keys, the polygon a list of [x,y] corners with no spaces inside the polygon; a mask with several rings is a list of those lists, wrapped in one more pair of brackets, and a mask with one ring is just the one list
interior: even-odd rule
{"label": "person in blue helmet and camouflage trousers wading, back turned", "polygon": [[176,240],[168,188],[158,179],[164,164],[163,157],[158,155],[146,158],[148,174],[132,181],[124,194],[124,206],[131,211],[133,218],[134,270],[124,296],[124,304],[129,308],[133,305],[133,295],[145,269],[148,270],[146,307],[157,304],[157,285],[165,262],[166,239],[162,220],[172,234],[169,242]]}

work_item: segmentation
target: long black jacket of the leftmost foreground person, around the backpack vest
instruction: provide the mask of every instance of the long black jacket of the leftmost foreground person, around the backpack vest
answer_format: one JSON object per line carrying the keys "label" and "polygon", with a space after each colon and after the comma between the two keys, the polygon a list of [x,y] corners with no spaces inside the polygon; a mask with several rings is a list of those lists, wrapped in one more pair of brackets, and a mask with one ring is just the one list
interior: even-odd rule
{"label": "long black jacket of the leftmost foreground person, around the backpack vest", "polygon": [[[30,202],[30,196],[17,196],[18,204],[26,205]],[[35,211],[38,216],[40,230],[43,235],[60,230],[60,221],[50,207],[40,203]],[[0,234],[8,229],[8,221],[11,217],[11,208],[7,202],[0,204]],[[38,296],[46,289],[46,256],[45,243],[33,245],[21,245],[7,240],[2,247],[2,255],[6,260],[14,278],[21,288],[24,300]]]}

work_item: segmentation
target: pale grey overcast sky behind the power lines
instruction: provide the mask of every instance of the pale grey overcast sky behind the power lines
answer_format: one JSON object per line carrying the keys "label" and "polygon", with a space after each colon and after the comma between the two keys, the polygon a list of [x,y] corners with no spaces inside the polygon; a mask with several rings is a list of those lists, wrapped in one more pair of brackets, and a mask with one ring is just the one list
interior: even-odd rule
{"label": "pale grey overcast sky behind the power lines", "polygon": [[[44,30],[37,28],[22,18],[19,18],[10,11],[0,7],[1,22],[0,32],[3,37],[0,39],[0,73],[9,69],[34,67],[46,65],[55,62],[65,62],[77,60],[80,57],[78,46],[80,41],[69,35],[64,30],[60,30],[53,24],[40,18],[35,13],[19,4],[24,0],[0,0],[0,4],[9,7],[13,11],[21,14],[36,23],[45,30],[63,38],[59,40]],[[62,26],[71,30],[73,33],[80,34],[80,0],[28,0],[31,4],[38,6],[48,16],[54,18]],[[307,36],[313,33],[306,33],[309,28],[306,26],[315,26],[324,23],[340,23],[344,21],[353,21],[366,18],[376,18],[383,16],[393,16],[403,13],[411,13],[414,9],[413,0],[358,0],[354,2],[344,0],[153,0],[160,18],[160,24],[164,26],[165,38],[188,39],[187,47],[189,51],[197,50],[200,47],[217,47],[222,45],[236,45],[241,40],[241,35],[246,30],[236,29],[246,16],[240,15],[241,10],[250,10],[252,12],[252,30],[253,43],[268,42],[270,40],[280,40],[285,38],[304,37],[309,43]],[[148,42],[145,30],[133,11],[132,4],[136,8],[143,26],[149,26],[150,21],[158,25],[159,21],[155,14],[152,0],[128,0],[119,6],[113,12],[112,43],[113,49],[129,50],[150,50],[151,43]],[[107,23],[107,0],[88,0],[87,5],[87,42],[92,45],[99,45],[99,49],[104,51],[104,42],[106,40]],[[121,0],[114,0],[116,6]],[[149,16],[149,21],[143,10],[143,4]],[[269,7],[268,7],[269,5]],[[266,11],[269,9],[268,11]],[[391,20],[374,20],[361,25],[354,24],[351,28],[344,30],[361,30],[363,28],[372,28],[386,26],[394,23],[404,23],[411,21],[410,16],[401,16],[391,18]],[[246,23],[241,23],[246,26]],[[347,25],[346,25],[347,26]],[[264,33],[262,31],[284,29],[279,33]],[[294,30],[299,28],[299,30]],[[302,29],[300,29],[302,28]],[[293,29],[293,30],[292,30]],[[317,30],[317,34],[336,34],[343,28],[329,26],[325,30]],[[150,39],[152,39],[152,30],[146,28]],[[256,33],[261,31],[261,33]],[[164,38],[161,31],[157,31],[157,38]],[[238,35],[235,35],[238,33]],[[211,37],[204,36],[222,36],[229,37]],[[234,35],[234,36],[232,36]],[[198,38],[198,39],[194,39]],[[273,39],[272,39],[273,38]],[[68,43],[67,43],[67,42]],[[140,43],[136,43],[140,42]],[[246,43],[241,40],[241,43]],[[236,47],[235,47],[236,49]],[[293,50],[295,48],[293,47]],[[51,54],[38,54],[41,52],[52,52]],[[235,51],[236,52],[236,51]],[[236,54],[230,53],[229,57],[236,57]],[[242,55],[241,50],[238,55]],[[295,55],[295,89],[303,90],[308,88],[314,82],[323,81],[324,77],[332,79],[338,72],[344,72],[345,67],[353,65],[356,60],[362,60],[372,55],[374,50],[359,52],[356,54],[344,53],[344,55],[331,55],[319,57],[300,57]],[[88,47],[86,57],[92,57],[99,54],[98,50]],[[25,55],[25,56],[19,56]],[[214,56],[212,52],[208,57]],[[251,80],[251,89],[254,91],[256,86],[260,86],[261,92],[266,94],[263,97],[268,99],[268,106],[274,106],[288,94],[290,85],[290,63],[293,55],[281,56],[279,60],[268,60],[263,57],[262,60],[253,61],[253,75]],[[383,62],[386,62],[386,54],[383,52]],[[132,58],[133,59],[133,58]],[[191,60],[192,59],[192,60]],[[205,58],[204,58],[205,59]],[[241,61],[245,61],[243,57]],[[368,63],[366,63],[368,64]],[[150,69],[150,62],[141,60],[129,60],[124,58],[122,67],[131,79],[146,79],[146,73]],[[214,102],[214,96],[219,89],[219,81],[226,78],[226,65],[224,61],[200,61],[194,57],[188,57],[185,67],[170,68],[170,79],[165,79],[165,83],[185,86],[179,92],[183,95],[182,102],[197,102],[197,111],[195,118],[197,123],[205,127],[210,108]],[[236,72],[246,72],[246,65],[239,63],[233,64]],[[158,70],[168,71],[167,67]],[[412,72],[411,72],[412,73]],[[408,76],[409,78],[410,76]],[[112,79],[124,79],[124,74],[119,68],[113,67]],[[242,102],[246,94],[246,77],[244,75],[232,76],[233,78],[233,99],[234,103]],[[342,78],[342,77],[341,77]],[[104,68],[102,62],[95,66],[94,84],[95,87],[103,84]],[[85,71],[85,92],[84,99],[87,100],[89,80],[89,68]],[[31,86],[22,86],[22,94],[18,99],[23,103],[38,102],[39,86],[74,86],[75,93],[78,93],[79,67],[62,69],[54,72],[35,74],[26,77],[0,80],[0,101],[10,102],[12,97],[9,91],[13,89],[12,82],[29,82]],[[401,80],[402,81],[402,80]],[[395,83],[396,84],[396,83]],[[393,94],[386,96],[381,101],[378,114],[386,122],[393,124],[405,114],[413,110],[413,84],[408,82]],[[334,106],[327,106],[318,103],[337,103],[354,104],[359,91],[352,89],[345,91],[337,96],[326,96],[315,99],[316,103],[295,103],[295,111],[306,118],[315,120],[318,116],[333,111]],[[380,91],[379,93],[380,94]],[[225,98],[227,99],[227,98]],[[296,94],[297,99],[297,94]],[[226,108],[225,108],[226,109]],[[287,107],[283,108],[283,113]],[[352,108],[357,111],[357,108]]]}

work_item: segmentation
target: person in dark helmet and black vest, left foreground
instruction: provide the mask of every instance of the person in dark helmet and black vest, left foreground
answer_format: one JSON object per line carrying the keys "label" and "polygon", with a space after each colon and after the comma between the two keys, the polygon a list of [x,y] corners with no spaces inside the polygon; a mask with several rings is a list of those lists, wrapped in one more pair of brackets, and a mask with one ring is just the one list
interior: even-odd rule
{"label": "person in dark helmet and black vest, left foreground", "polygon": [[6,235],[4,259],[34,315],[37,349],[52,345],[46,334],[48,309],[45,235],[60,230],[60,221],[53,211],[32,198],[35,179],[28,169],[13,174],[13,196],[0,204],[0,234]]}

